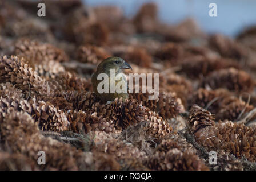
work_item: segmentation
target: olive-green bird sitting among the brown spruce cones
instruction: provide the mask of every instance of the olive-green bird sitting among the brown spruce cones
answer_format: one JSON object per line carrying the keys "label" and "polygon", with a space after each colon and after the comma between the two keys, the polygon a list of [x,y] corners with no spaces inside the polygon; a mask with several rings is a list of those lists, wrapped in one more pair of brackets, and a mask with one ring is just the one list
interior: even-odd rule
{"label": "olive-green bird sitting among the brown spruce cones", "polygon": [[[114,93],[110,92],[111,91],[110,90],[110,85],[111,85],[111,82],[110,82],[110,78],[111,78],[110,75],[111,74],[110,73],[112,73],[112,75],[114,75],[114,76],[117,76],[118,73],[123,73],[122,69],[131,69],[131,66],[130,66],[130,64],[126,63],[126,61],[123,60],[120,57],[108,57],[107,59],[105,59],[101,63],[99,63],[99,65],[97,67],[97,71],[93,74],[93,77],[92,77],[91,81],[93,82],[93,90],[94,90],[95,94],[103,102],[109,103],[111,101],[114,101],[115,98],[121,98],[121,97],[122,97],[122,100],[124,101],[124,100],[126,100],[126,98],[129,97],[128,90],[127,90],[127,88],[128,88],[127,87],[127,81],[126,81],[126,78],[124,78],[124,77],[122,77],[122,79],[123,79],[123,81],[125,81],[125,84],[126,84],[126,87],[127,87],[126,88],[127,93],[124,93],[124,92],[117,93],[117,90],[114,90]],[[99,75],[101,73],[106,73],[108,79],[103,79],[102,76]],[[99,76],[99,80],[97,79],[98,76]],[[112,82],[112,83],[114,83],[115,86],[116,86],[119,81],[121,81],[121,78],[120,78],[120,80],[119,79],[114,80],[114,82]],[[98,84],[101,83],[101,85],[102,85],[102,84],[105,84],[106,82],[108,82],[106,84],[106,85],[108,85],[108,89],[107,89],[108,92],[107,93],[106,92],[105,93],[99,93],[98,92]]]}

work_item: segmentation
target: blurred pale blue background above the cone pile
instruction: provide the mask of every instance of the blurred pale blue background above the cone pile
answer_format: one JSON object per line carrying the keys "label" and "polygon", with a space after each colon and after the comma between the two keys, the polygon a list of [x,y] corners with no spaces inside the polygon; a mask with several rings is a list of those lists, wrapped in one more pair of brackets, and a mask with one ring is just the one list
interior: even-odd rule
{"label": "blurred pale blue background above the cone pile", "polygon": [[[84,0],[91,6],[115,5],[131,17],[145,2],[158,5],[158,16],[163,22],[178,23],[188,17],[194,18],[199,26],[209,33],[236,36],[243,28],[256,24],[256,1],[254,0]],[[217,17],[209,16],[209,4],[217,4]]]}

